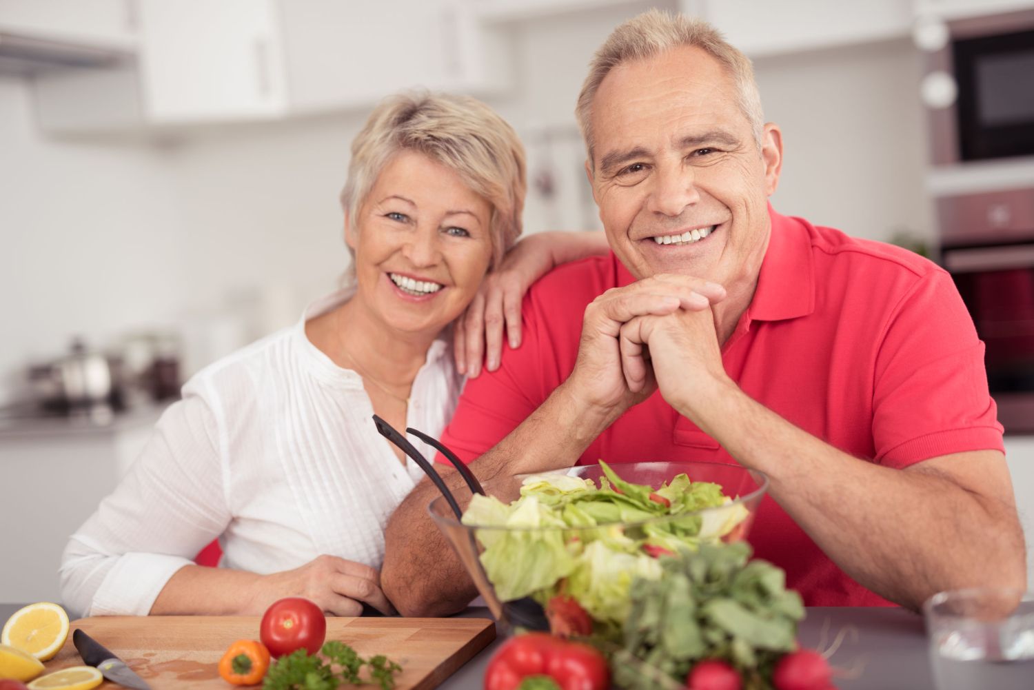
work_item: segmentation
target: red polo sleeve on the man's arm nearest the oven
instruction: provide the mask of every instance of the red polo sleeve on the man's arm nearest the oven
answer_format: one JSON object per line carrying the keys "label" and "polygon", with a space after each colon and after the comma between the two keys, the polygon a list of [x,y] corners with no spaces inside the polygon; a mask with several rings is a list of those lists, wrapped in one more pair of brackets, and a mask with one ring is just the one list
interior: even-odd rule
{"label": "red polo sleeve on the man's arm nearest the oven", "polygon": [[902,469],[950,453],[1004,450],[983,343],[943,270],[921,276],[891,310],[874,377],[877,462]]}

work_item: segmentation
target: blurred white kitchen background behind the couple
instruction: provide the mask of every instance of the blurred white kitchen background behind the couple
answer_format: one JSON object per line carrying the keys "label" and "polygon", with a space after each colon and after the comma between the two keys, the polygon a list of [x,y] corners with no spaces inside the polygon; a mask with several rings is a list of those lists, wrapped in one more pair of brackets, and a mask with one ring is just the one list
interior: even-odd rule
{"label": "blurred white kitchen background behind the couple", "polygon": [[953,271],[1034,529],[1034,0],[0,0],[0,602],[59,596],[179,384],[336,286],[382,96],[486,100],[525,232],[598,228],[574,99],[651,4],[754,59],[777,209]]}

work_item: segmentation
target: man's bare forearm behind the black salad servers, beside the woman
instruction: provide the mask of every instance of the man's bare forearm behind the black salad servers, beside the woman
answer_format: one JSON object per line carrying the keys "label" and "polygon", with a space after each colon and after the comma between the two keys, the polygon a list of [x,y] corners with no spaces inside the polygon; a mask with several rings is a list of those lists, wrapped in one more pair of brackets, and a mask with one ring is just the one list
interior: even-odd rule
{"label": "man's bare forearm behind the black salad servers, beside the woman", "polygon": [[[472,462],[470,471],[488,483],[496,477],[571,467],[618,415],[594,413],[560,386],[497,446]],[[450,489],[464,487],[455,470],[436,469]],[[422,481],[385,531],[381,584],[403,616],[448,616],[477,596],[466,569],[427,514],[428,504],[438,496],[430,481]]]}

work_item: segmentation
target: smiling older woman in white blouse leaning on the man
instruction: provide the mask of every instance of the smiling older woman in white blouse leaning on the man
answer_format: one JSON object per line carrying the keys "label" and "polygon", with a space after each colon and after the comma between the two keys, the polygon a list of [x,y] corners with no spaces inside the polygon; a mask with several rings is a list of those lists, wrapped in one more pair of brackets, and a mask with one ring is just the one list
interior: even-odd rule
{"label": "smiling older woman in white blouse leaning on the man", "polygon": [[[353,143],[342,192],[354,286],[187,383],[69,540],[64,602],[91,616],[254,614],[297,595],[340,616],[364,603],[390,612],[383,530],[421,471],[370,417],[435,436],[449,420],[462,385],[450,325],[514,244],[524,189],[520,142],[487,106],[383,102]],[[498,282],[521,293],[552,264],[604,246],[562,241],[519,248]],[[498,322],[503,302],[489,302]],[[479,338],[477,328],[458,338],[475,374]],[[223,567],[193,565],[216,537]]]}

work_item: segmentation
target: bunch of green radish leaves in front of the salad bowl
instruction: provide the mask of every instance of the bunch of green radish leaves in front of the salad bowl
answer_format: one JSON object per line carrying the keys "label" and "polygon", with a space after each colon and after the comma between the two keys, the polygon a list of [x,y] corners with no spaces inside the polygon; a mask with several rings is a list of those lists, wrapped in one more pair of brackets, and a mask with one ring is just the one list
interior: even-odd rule
{"label": "bunch of green radish leaves in front of the salad bowl", "polygon": [[776,662],[795,649],[804,607],[783,570],[750,558],[746,542],[701,544],[662,558],[661,579],[636,579],[624,649],[613,658],[615,683],[661,690],[672,687],[665,677],[681,685],[696,662],[722,659],[739,671],[743,690],[770,688]]}

